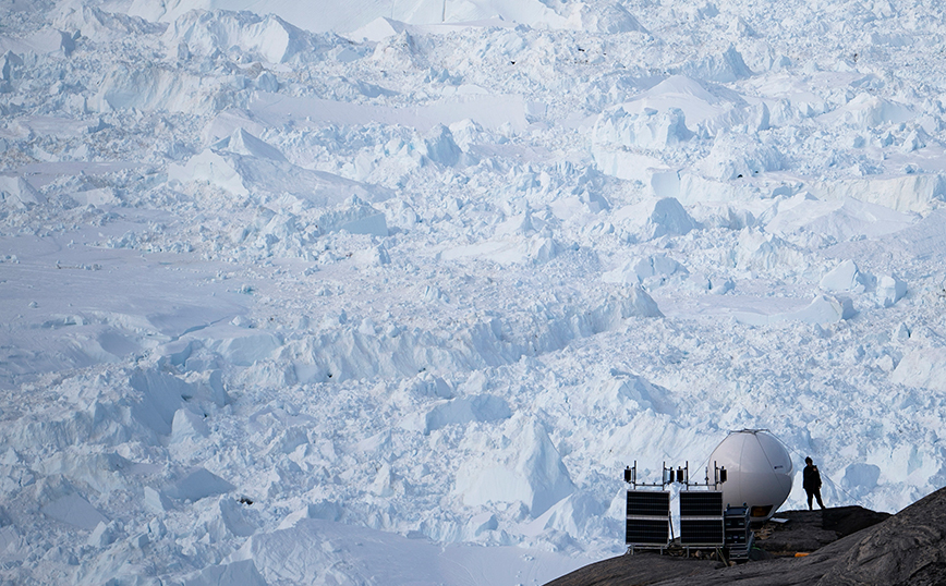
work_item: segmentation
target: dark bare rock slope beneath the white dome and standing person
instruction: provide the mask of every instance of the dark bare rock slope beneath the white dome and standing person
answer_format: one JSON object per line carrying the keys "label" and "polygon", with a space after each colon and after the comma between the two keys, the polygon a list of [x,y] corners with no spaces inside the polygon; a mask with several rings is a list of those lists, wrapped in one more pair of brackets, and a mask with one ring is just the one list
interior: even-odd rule
{"label": "dark bare rock slope beneath the white dome and standing person", "polygon": [[[946,489],[896,515],[861,506],[779,513],[759,529],[759,561],[639,553],[604,560],[548,586],[868,586],[946,583]],[[801,556],[796,557],[797,553]]]}

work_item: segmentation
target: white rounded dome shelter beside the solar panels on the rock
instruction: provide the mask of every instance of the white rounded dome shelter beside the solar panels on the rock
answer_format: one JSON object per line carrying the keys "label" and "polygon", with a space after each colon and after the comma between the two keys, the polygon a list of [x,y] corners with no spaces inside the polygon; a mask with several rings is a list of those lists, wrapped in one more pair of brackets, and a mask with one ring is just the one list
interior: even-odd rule
{"label": "white rounded dome shelter beside the solar panels on the rock", "polygon": [[749,506],[751,521],[771,517],[791,492],[791,456],[762,429],[732,431],[710,455],[710,466],[725,467],[723,505]]}

